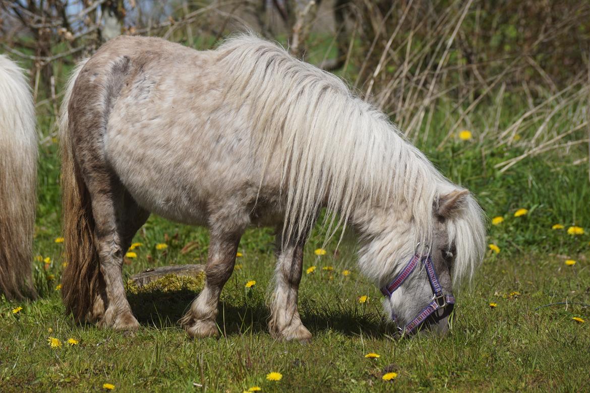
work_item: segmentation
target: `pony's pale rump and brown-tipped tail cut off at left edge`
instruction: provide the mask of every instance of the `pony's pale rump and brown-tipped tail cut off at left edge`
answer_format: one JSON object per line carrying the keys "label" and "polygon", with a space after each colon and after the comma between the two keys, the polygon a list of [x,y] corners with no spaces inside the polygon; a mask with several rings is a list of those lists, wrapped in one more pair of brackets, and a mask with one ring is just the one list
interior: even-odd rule
{"label": "pony's pale rump and brown-tipped tail cut off at left edge", "polygon": [[0,55],[0,295],[35,298],[31,277],[37,133],[23,70]]}

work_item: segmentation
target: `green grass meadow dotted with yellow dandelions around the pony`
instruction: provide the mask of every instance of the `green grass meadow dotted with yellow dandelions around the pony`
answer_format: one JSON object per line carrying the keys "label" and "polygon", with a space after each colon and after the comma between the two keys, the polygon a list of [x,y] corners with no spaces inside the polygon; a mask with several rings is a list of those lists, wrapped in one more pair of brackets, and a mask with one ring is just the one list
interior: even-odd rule
{"label": "green grass meadow dotted with yellow dandelions around the pony", "polygon": [[[326,47],[310,52],[312,62]],[[68,70],[55,68],[58,85]],[[339,74],[352,80],[354,72]],[[136,333],[80,326],[65,315],[55,110],[38,100],[39,299],[0,299],[0,391],[590,390],[588,140],[579,143],[588,130],[588,87],[572,91],[540,91],[533,103],[500,87],[477,105],[441,96],[392,113],[445,176],[476,195],[489,217],[489,250],[473,280],[455,290],[446,336],[398,339],[381,293],[356,267],[355,233],[347,230],[339,247],[337,239],[324,245],[318,226],[300,286],[299,310],[313,334],[307,345],[268,334],[275,256],[264,228],[242,237],[221,294],[219,338],[191,340],[178,324],[199,279],[130,285],[142,325]],[[424,121],[415,122],[421,112]],[[556,136],[562,145],[550,143]],[[127,278],[149,267],[205,263],[208,232],[152,216],[134,243]]]}

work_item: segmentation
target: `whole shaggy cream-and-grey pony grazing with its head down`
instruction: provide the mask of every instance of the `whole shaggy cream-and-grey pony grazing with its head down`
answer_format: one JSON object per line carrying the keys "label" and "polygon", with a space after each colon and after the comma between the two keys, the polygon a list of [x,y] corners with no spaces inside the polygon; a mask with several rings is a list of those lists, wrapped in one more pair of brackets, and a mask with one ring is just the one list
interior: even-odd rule
{"label": "whole shaggy cream-and-grey pony grazing with its head down", "polygon": [[359,267],[376,285],[391,289],[406,272],[384,302],[398,326],[434,302],[415,324],[446,331],[454,283],[483,258],[483,213],[469,191],[339,78],[254,35],[210,51],[113,39],[78,64],[62,111],[62,290],[77,321],[137,328],[123,255],[152,212],[211,234],[204,289],[181,319],[192,338],[218,334],[219,294],[251,225],[277,229],[268,328],[281,340],[312,336],[297,296],[322,209],[329,236],[358,230]]}

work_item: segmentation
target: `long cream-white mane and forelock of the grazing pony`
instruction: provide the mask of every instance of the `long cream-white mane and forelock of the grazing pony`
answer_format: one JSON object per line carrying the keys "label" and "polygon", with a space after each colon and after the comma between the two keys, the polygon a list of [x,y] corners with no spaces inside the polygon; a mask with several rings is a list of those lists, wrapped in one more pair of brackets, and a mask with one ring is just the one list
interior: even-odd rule
{"label": "long cream-white mane and forelock of the grazing pony", "polygon": [[[255,154],[263,157],[265,173],[272,170],[271,157],[283,159],[285,239],[307,236],[325,202],[327,239],[346,227],[355,207],[363,204],[392,206],[392,213],[409,209],[415,235],[408,240],[423,249],[431,245],[433,205],[459,187],[404,140],[385,114],[335,75],[254,35],[230,38],[217,51],[222,69],[231,70],[224,103],[249,105]],[[458,253],[454,278],[473,272],[483,256],[481,210],[473,197],[468,199],[468,209],[448,223]],[[391,274],[407,253],[389,250],[388,266],[375,269],[372,278]]]}

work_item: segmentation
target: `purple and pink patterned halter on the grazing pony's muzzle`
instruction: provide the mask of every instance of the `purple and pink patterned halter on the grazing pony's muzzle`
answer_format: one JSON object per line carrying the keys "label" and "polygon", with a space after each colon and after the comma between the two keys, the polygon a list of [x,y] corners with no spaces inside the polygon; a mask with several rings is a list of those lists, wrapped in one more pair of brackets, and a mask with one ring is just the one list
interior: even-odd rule
{"label": "purple and pink patterned halter on the grazing pony's muzzle", "polygon": [[[434,270],[434,266],[432,265],[432,258],[430,255],[422,256],[416,253],[412,259],[409,260],[408,265],[404,267],[401,273],[388,285],[381,288],[381,293],[383,295],[391,297],[392,293],[395,292],[399,286],[408,278],[409,275],[414,272],[418,263],[424,262],[424,267],[426,268],[426,272],[428,273],[428,280],[430,280],[430,286],[432,287],[432,292],[434,292],[434,296],[432,296],[432,301],[424,310],[422,310],[413,321],[409,322],[405,325],[404,329],[400,328],[400,331],[405,332],[407,334],[414,331],[425,319],[427,319],[432,313],[444,309],[447,305],[455,303],[455,297],[453,295],[444,295],[442,293],[442,286],[438,281],[437,272]],[[396,319],[395,314],[392,315],[392,318]]]}

